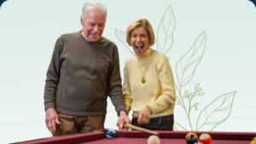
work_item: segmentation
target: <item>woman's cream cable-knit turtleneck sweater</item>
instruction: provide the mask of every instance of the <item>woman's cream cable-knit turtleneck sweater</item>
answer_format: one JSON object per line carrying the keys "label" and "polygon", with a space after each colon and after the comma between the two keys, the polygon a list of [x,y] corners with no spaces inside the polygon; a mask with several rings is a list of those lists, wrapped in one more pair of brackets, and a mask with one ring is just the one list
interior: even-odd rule
{"label": "woman's cream cable-knit turtleneck sweater", "polygon": [[171,66],[165,55],[154,49],[148,49],[143,55],[133,55],[125,62],[124,75],[127,112],[138,112],[148,106],[151,118],[173,113],[176,95]]}

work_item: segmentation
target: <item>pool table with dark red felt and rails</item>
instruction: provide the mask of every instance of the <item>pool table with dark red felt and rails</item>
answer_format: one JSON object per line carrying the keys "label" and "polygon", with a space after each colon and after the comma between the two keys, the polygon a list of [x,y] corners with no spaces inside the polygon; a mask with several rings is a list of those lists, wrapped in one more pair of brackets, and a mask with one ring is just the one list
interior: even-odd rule
{"label": "pool table with dark red felt and rails", "polygon": [[[158,131],[160,144],[186,144],[187,131]],[[201,135],[202,131],[196,131]],[[256,133],[253,132],[207,132],[212,135],[211,144],[249,144]],[[19,144],[147,144],[148,133],[137,130],[119,131],[116,138],[108,139],[103,131],[86,134],[50,137]]]}

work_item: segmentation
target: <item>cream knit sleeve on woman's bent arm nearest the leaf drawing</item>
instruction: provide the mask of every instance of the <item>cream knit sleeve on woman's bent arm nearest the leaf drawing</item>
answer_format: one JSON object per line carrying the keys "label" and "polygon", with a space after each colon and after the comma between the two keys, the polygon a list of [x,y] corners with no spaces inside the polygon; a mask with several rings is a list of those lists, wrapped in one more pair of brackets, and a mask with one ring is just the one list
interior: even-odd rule
{"label": "cream knit sleeve on woman's bent arm nearest the leaf drawing", "polygon": [[166,56],[162,56],[161,58],[162,59],[160,59],[156,66],[160,86],[162,88],[161,95],[158,96],[156,101],[148,104],[153,114],[165,111],[166,108],[174,105],[176,101],[171,66]]}

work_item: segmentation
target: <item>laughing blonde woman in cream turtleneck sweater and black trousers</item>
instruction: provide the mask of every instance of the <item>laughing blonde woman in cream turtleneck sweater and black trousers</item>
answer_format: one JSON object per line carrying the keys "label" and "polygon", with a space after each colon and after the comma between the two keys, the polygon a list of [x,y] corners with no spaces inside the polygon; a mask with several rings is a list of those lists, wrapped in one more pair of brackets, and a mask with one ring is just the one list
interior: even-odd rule
{"label": "laughing blonde woman in cream turtleneck sweater and black trousers", "polygon": [[136,55],[125,62],[125,109],[133,111],[131,124],[148,130],[173,130],[176,101],[171,66],[165,55],[149,48],[154,31],[148,20],[134,21],[126,41]]}

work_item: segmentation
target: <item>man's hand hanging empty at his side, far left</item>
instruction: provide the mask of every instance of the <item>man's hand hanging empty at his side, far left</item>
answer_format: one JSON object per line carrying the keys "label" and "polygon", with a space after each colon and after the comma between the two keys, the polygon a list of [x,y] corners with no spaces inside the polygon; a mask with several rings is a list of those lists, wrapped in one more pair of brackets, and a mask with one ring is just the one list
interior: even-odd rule
{"label": "man's hand hanging empty at his side, far left", "polygon": [[56,124],[61,124],[57,112],[54,108],[48,108],[45,113],[45,123],[48,130],[53,134],[56,130]]}

